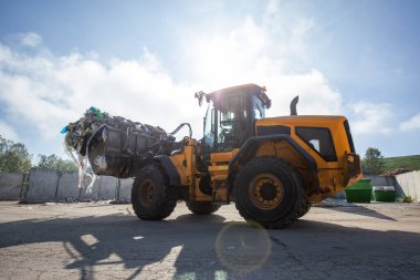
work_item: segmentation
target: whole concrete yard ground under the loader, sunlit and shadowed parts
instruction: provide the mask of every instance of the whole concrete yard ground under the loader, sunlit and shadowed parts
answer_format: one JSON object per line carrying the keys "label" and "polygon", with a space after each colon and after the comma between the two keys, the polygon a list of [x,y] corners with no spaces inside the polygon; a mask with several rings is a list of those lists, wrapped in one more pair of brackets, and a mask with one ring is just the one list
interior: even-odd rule
{"label": "whole concrete yard ground under the loader, sunlit and shadowed parts", "polygon": [[285,230],[233,205],[165,221],[129,205],[0,203],[1,279],[420,279],[420,204],[313,207]]}

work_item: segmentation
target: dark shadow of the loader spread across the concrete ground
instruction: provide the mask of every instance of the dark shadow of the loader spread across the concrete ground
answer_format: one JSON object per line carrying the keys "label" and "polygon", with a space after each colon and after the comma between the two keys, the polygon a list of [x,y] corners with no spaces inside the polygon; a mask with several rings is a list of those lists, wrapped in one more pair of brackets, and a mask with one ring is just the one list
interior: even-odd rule
{"label": "dark shadow of the loader spread across the concrete ground", "polygon": [[[85,236],[95,242],[86,242]],[[420,274],[419,234],[309,220],[287,230],[264,230],[227,222],[219,215],[181,215],[158,222],[109,215],[6,222],[0,237],[0,249],[59,241],[72,256],[74,248],[78,256],[63,269],[77,269],[81,279],[99,279],[95,271],[112,265],[123,265],[129,271],[125,278],[135,279],[148,271],[147,266],[164,260],[174,262],[175,279],[416,279]],[[118,259],[109,260],[112,255]]]}

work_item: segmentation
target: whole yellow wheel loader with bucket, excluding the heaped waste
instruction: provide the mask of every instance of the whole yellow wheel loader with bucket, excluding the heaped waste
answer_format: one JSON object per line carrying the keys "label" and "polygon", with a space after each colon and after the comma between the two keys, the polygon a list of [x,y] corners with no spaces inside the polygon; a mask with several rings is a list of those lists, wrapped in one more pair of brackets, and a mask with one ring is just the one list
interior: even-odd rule
{"label": "whole yellow wheel loader with bucket, excluding the heaped waste", "polygon": [[271,100],[255,84],[196,97],[208,104],[199,141],[105,123],[83,143],[96,174],[135,178],[132,203],[140,219],[165,219],[178,200],[197,215],[234,203],[246,221],[284,228],[361,178],[344,116],[297,115],[295,97],[291,115],[265,117]]}

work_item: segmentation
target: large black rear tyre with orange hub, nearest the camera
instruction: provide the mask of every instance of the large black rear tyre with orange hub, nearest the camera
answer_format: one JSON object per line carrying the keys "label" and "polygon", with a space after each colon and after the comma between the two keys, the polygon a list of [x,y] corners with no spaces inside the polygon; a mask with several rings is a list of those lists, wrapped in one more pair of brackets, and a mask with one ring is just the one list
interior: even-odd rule
{"label": "large black rear tyre with orange hub, nearest the camera", "polygon": [[234,191],[239,214],[264,228],[287,227],[306,203],[300,174],[276,157],[250,160],[238,174]]}

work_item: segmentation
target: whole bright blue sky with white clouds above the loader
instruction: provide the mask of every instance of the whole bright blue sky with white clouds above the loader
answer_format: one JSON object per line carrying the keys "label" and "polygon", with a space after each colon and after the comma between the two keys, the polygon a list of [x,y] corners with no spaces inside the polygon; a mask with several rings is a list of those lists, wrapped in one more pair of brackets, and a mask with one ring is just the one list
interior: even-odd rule
{"label": "whole bright blue sky with white clouds above the loader", "polygon": [[0,2],[0,134],[63,155],[90,106],[202,131],[196,91],[267,87],[270,116],[350,120],[356,149],[420,154],[419,1]]}

